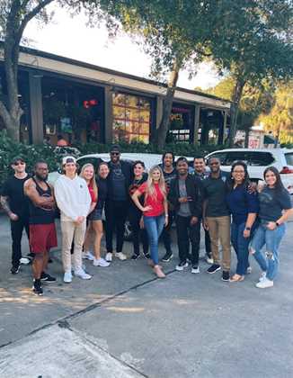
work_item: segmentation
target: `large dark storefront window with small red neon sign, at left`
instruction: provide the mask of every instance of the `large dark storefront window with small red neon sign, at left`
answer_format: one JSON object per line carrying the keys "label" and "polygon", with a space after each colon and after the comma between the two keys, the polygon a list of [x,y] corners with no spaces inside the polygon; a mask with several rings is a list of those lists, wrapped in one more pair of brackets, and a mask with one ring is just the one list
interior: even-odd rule
{"label": "large dark storefront window with small red neon sign, at left", "polygon": [[103,141],[103,89],[57,78],[42,80],[44,134],[52,144]]}

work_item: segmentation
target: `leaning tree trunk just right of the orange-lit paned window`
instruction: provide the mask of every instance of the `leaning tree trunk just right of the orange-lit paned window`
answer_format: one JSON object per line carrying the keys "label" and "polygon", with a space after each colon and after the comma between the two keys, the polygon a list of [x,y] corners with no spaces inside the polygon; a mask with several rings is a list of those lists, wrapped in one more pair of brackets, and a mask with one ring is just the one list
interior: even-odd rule
{"label": "leaning tree trunk just right of the orange-lit paned window", "polygon": [[167,132],[170,128],[170,115],[172,112],[173,98],[179,77],[180,65],[174,62],[173,69],[168,80],[167,92],[164,97],[164,109],[162,121],[159,128],[155,131],[155,144],[158,148],[164,148]]}

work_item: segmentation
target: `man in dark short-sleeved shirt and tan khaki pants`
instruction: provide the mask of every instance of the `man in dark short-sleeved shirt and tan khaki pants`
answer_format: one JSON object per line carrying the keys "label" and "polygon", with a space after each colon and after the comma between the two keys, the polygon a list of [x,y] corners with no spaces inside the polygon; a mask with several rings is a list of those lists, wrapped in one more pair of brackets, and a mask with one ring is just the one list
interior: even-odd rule
{"label": "man in dark short-sleeved shirt and tan khaki pants", "polygon": [[[203,185],[203,217],[204,227],[209,229],[211,250],[214,264],[208,273],[213,274],[223,269],[222,280],[229,281],[231,242],[230,242],[230,213],[226,205],[226,172],[221,172],[220,161],[217,157],[209,158],[210,175],[202,181]],[[222,247],[222,258],[219,257],[218,239]]]}

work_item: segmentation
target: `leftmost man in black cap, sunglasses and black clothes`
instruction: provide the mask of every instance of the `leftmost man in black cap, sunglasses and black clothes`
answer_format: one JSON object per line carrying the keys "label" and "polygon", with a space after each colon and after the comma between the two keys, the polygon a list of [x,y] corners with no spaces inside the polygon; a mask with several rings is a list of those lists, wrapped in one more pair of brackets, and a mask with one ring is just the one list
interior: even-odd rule
{"label": "leftmost man in black cap, sunglasses and black clothes", "polygon": [[22,257],[22,231],[25,229],[29,238],[29,202],[23,193],[23,185],[30,176],[25,171],[22,157],[15,157],[12,162],[14,175],[4,183],[0,202],[11,222],[11,236],[13,239],[12,268],[10,272],[16,275],[19,266],[28,264],[30,260]]}

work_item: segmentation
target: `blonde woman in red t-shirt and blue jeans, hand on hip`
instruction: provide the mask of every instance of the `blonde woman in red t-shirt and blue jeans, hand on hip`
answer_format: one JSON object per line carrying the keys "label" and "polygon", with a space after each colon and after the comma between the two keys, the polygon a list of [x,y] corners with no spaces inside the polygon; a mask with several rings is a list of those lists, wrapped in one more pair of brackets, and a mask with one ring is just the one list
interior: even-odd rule
{"label": "blonde woman in red t-shirt and blue jeans, hand on hip", "polygon": [[[139,202],[139,197],[143,194],[145,206]],[[132,195],[132,200],[144,214],[144,226],[147,229],[155,275],[164,278],[165,275],[159,266],[158,242],[164,226],[168,224],[168,204],[164,175],[159,166],[153,166],[149,170],[146,183],[138,187]]]}

